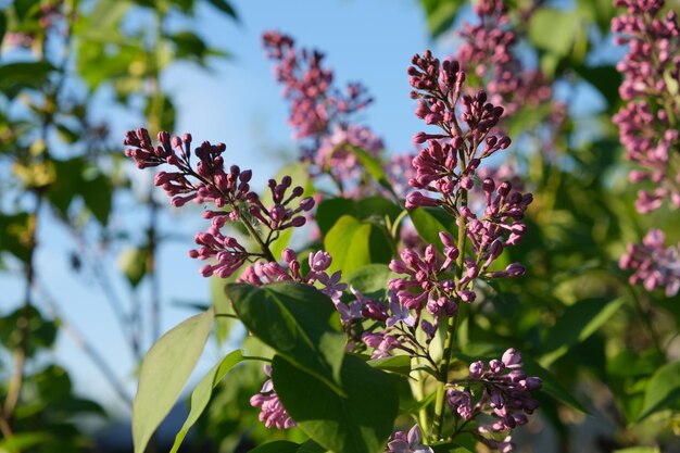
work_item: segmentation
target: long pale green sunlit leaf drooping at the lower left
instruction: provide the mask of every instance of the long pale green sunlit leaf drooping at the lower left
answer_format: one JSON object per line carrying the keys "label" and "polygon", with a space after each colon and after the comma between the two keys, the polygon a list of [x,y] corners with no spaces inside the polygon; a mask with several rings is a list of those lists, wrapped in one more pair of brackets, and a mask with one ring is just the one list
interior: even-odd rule
{"label": "long pale green sunlit leaf drooping at the lower left", "polygon": [[143,453],[179,398],[203,352],[214,317],[212,307],[191,316],[161,337],[144,356],[133,405],[135,453]]}

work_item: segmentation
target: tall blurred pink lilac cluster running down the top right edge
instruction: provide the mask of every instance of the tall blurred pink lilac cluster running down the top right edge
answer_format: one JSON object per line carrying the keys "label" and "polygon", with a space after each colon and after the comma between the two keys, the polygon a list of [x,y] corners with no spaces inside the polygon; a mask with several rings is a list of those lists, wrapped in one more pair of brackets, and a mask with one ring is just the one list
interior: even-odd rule
{"label": "tall blurred pink lilac cluster running down the top right edge", "polygon": [[652,191],[638,192],[635,207],[646,214],[665,201],[680,206],[678,18],[672,10],[657,17],[663,0],[615,0],[614,4],[627,9],[627,14],[612,21],[612,30],[619,34],[619,45],[628,45],[617,70],[624,74],[619,93],[629,102],[613,119],[628,160],[639,164],[630,180],[655,185]]}

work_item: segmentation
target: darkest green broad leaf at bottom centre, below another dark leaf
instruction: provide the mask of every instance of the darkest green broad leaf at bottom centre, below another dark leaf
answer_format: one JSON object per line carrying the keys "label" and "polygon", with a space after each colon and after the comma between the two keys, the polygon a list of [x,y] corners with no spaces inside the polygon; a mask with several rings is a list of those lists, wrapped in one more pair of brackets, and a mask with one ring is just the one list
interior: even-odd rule
{"label": "darkest green broad leaf at bottom centre, below another dark leaf", "polygon": [[347,398],[279,355],[272,380],[286,411],[313,440],[335,453],[382,451],[396,417],[396,380],[348,355],[342,363]]}

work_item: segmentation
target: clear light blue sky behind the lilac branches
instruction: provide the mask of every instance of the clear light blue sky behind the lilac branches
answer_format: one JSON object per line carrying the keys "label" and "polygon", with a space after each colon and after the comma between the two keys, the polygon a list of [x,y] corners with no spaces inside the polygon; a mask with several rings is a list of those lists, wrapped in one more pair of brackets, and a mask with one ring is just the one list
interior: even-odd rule
{"label": "clear light blue sky behind the lilac branches", "polygon": [[[337,81],[361,80],[375,98],[361,122],[383,137],[390,152],[412,150],[411,137],[421,126],[413,115],[406,67],[414,53],[432,48],[416,0],[235,0],[234,4],[240,24],[205,7],[199,10],[194,27],[213,47],[228,50],[234,58],[214,62],[210,73],[181,64],[164,75],[163,84],[174,95],[178,112],[176,134],[189,131],[197,141],[224,141],[226,159],[253,168],[255,185],[263,185],[285,162],[294,160],[295,146],[286,125],[287,105],[260,41],[262,32],[277,29],[292,35],[301,46],[324,51]],[[127,128],[140,126],[126,116],[112,118],[111,125],[121,140]],[[201,263],[187,256],[193,246],[192,235],[205,227],[200,211],[174,210],[169,205],[167,210],[163,228],[178,231],[180,239],[164,246],[159,261],[164,331],[192,314],[173,306],[175,302],[210,300],[209,281],[198,274]],[[143,225],[146,218],[126,213],[114,222]],[[42,242],[37,266],[45,288],[61,314],[108,358],[134,394],[133,357],[123,347],[121,330],[101,291],[87,278],[72,273],[72,242],[66,231],[55,224],[45,224],[39,234]],[[110,264],[111,275],[115,275],[114,263]],[[18,280],[0,274],[0,287],[8,300],[21,300],[23,286]],[[139,297],[146,298],[147,290],[142,285]],[[129,299],[122,281],[115,282],[115,291],[122,299]],[[72,372],[77,391],[105,404],[115,400],[100,370],[72,338],[61,332],[54,354]],[[210,348],[198,373],[210,368],[218,354]]]}

